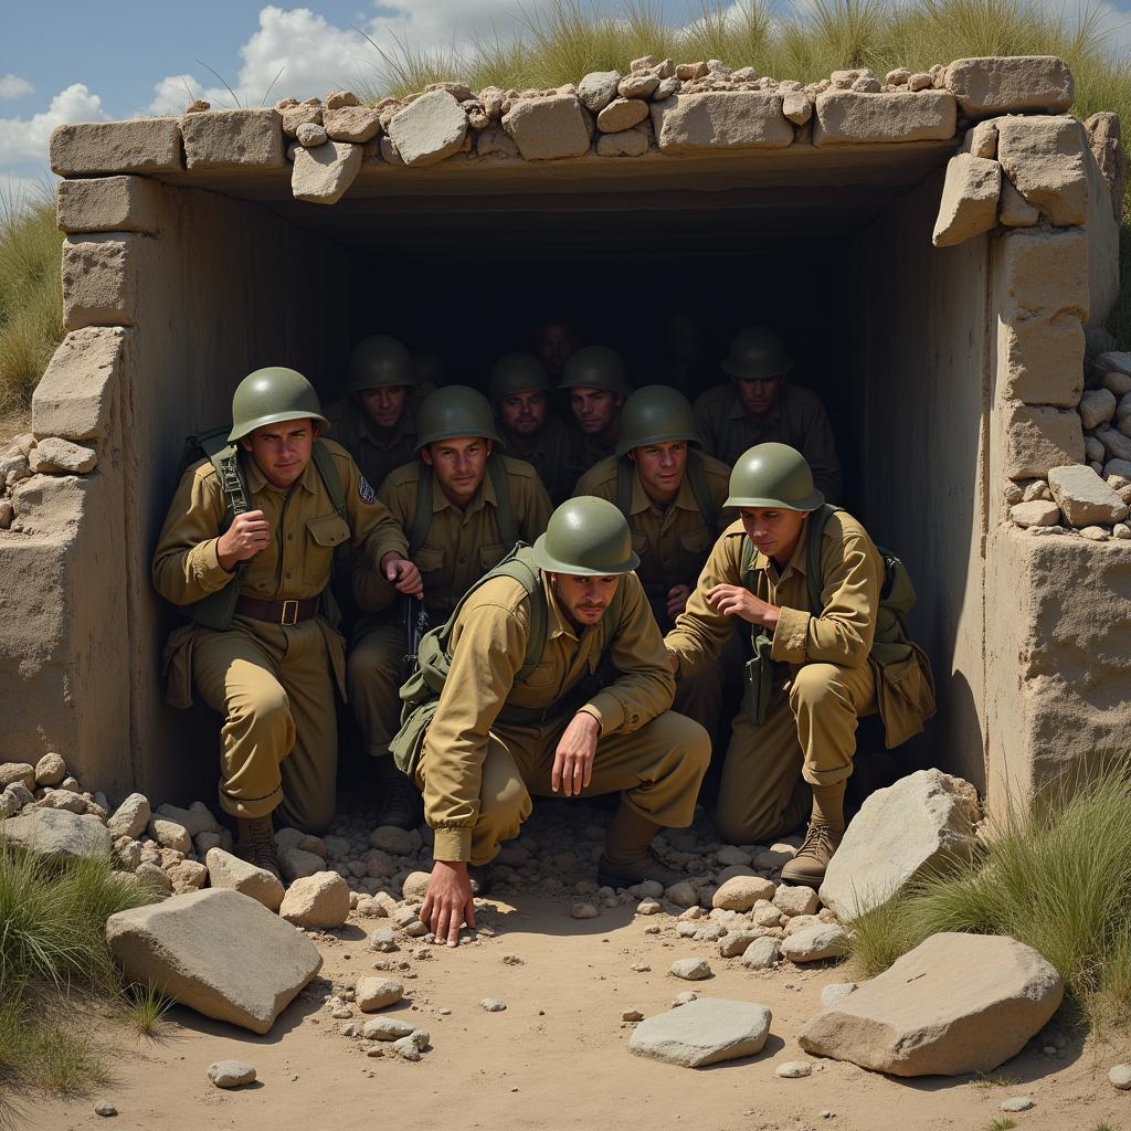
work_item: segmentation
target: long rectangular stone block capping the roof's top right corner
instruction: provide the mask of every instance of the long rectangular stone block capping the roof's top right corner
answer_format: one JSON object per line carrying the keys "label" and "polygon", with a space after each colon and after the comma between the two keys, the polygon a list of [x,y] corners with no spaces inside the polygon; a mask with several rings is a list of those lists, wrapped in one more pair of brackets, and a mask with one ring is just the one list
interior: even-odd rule
{"label": "long rectangular stone block capping the roof's top right corner", "polygon": [[944,81],[968,118],[1060,114],[1076,97],[1072,71],[1056,55],[956,59],[947,68]]}

